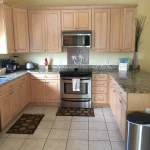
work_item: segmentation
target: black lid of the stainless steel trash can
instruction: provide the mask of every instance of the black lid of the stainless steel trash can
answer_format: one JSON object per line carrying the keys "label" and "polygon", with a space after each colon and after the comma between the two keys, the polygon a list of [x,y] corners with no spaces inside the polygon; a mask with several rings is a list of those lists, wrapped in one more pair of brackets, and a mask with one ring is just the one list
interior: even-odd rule
{"label": "black lid of the stainless steel trash can", "polygon": [[136,124],[150,124],[150,114],[143,112],[134,112],[127,115],[127,120]]}

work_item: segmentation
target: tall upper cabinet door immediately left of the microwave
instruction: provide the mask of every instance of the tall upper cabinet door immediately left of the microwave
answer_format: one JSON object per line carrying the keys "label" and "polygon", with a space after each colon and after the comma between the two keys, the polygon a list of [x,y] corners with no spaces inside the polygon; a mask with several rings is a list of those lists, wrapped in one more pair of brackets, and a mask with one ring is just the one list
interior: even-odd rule
{"label": "tall upper cabinet door immediately left of the microwave", "polygon": [[60,11],[46,11],[46,50],[49,52],[61,52],[61,25]]}

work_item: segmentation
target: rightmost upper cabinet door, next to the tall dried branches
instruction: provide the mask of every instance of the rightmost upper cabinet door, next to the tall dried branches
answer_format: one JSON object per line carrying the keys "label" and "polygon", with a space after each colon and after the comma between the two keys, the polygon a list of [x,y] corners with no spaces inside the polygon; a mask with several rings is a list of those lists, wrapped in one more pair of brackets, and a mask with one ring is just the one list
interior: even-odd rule
{"label": "rightmost upper cabinet door, next to the tall dried branches", "polygon": [[124,9],[123,51],[135,50],[136,8]]}

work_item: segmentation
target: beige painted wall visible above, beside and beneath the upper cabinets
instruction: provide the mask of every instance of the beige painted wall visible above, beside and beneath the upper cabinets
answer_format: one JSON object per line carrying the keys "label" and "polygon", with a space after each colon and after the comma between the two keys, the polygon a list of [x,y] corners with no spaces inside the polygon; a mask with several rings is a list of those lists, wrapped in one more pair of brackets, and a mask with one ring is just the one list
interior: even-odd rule
{"label": "beige painted wall visible above, beside and beneath the upper cabinets", "polygon": [[[138,3],[138,14],[144,14],[147,16],[147,20],[150,20],[150,0],[5,0],[8,4],[22,4],[26,6],[33,5],[99,5],[99,4],[121,4],[121,3]],[[139,63],[142,70],[150,72],[149,56],[149,33],[150,26],[145,29],[140,46]],[[132,53],[97,53],[90,52],[90,64],[103,65],[105,60],[109,60],[109,64],[117,64],[118,58],[129,57],[132,58]],[[53,64],[67,64],[67,54],[63,53],[31,53],[31,54],[19,54],[19,62],[24,64],[26,61],[33,61],[35,63],[43,64],[44,58],[53,58]]]}

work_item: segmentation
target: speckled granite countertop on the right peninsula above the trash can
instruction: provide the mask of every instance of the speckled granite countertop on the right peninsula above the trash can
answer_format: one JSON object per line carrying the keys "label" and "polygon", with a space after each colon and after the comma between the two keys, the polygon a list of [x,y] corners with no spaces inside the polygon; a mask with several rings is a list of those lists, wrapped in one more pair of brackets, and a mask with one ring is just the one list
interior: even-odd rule
{"label": "speckled granite countertop on the right peninsula above the trash can", "polygon": [[143,71],[109,73],[127,93],[150,93],[150,74]]}

